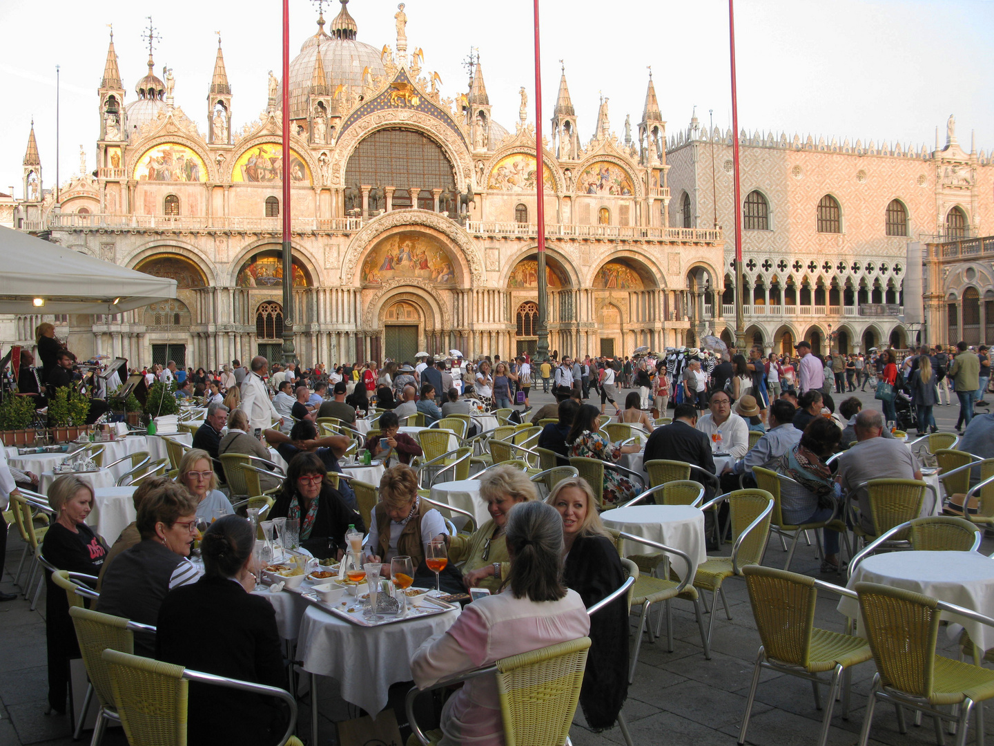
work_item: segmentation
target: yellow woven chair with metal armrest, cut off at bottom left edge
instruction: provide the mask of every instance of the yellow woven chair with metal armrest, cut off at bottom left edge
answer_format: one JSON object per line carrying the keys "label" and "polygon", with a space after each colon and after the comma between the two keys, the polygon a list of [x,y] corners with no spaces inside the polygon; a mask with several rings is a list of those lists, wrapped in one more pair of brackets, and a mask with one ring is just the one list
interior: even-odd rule
{"label": "yellow woven chair with metal armrest, cut off at bottom left edge", "polygon": [[297,726],[297,701],[285,689],[120,651],[105,650],[101,657],[107,664],[114,706],[128,743],[186,743],[188,684],[199,681],[281,699],[290,716],[277,746],[302,746],[292,735]]}

